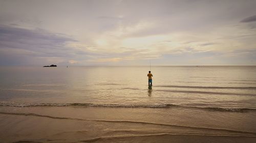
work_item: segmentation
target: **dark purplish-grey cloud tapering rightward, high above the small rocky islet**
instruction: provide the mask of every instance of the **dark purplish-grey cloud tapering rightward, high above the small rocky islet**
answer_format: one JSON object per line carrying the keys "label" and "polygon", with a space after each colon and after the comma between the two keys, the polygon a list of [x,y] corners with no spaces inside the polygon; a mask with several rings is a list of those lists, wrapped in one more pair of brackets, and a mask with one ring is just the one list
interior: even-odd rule
{"label": "dark purplish-grey cloud tapering rightward, high above the small rocky islet", "polygon": [[49,33],[42,29],[29,30],[0,25],[1,47],[33,50],[34,46],[37,46],[37,48],[56,48],[65,45],[67,42],[75,41],[61,34]]}

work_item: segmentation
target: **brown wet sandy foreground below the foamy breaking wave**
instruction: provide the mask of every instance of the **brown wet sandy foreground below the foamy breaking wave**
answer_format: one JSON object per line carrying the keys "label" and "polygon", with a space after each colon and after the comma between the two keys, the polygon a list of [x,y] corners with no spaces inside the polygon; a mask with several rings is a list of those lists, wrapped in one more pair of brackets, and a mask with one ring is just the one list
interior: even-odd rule
{"label": "brown wet sandy foreground below the foamy breaking wave", "polygon": [[[247,116],[247,121],[230,120],[232,123],[223,124],[223,121],[214,123],[214,119],[201,119],[199,115],[195,115],[196,112],[191,112],[192,110],[181,108],[167,109],[166,112],[163,110],[166,109],[0,107],[0,138],[1,142],[255,142],[256,140],[255,125],[253,119],[248,118],[248,113],[240,113],[241,116]],[[191,112],[191,115],[184,110]],[[211,111],[209,115],[216,116],[218,113],[230,116],[229,112],[219,111]],[[195,116],[192,116],[193,114]],[[245,122],[252,125],[251,128],[239,127]],[[232,127],[233,124],[237,124],[237,127]]]}

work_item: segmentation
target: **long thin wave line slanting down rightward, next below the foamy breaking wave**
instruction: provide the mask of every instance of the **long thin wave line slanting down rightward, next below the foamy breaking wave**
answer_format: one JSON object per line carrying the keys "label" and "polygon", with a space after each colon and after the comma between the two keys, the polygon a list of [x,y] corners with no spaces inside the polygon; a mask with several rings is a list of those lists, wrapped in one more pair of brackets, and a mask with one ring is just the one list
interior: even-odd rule
{"label": "long thin wave line slanting down rightward, next below the foamy breaking wave", "polygon": [[142,122],[142,121],[113,121],[113,120],[81,119],[81,118],[54,117],[54,116],[48,116],[48,115],[39,115],[39,114],[36,114],[36,113],[18,113],[18,112],[0,112],[0,114],[4,114],[4,115],[16,115],[16,116],[36,116],[36,117],[45,117],[45,118],[51,118],[51,119],[76,120],[76,121],[95,121],[95,122],[109,122],[109,123],[151,124],[151,125],[183,127],[183,128],[191,128],[191,129],[219,130],[219,131],[228,131],[228,132],[234,132],[234,133],[248,133],[248,134],[256,135],[255,132],[247,132],[247,131],[229,130],[229,129],[221,129],[221,128],[206,128],[206,127],[180,126],[180,125],[171,125],[171,124],[162,124],[162,123],[152,123],[152,122]]}

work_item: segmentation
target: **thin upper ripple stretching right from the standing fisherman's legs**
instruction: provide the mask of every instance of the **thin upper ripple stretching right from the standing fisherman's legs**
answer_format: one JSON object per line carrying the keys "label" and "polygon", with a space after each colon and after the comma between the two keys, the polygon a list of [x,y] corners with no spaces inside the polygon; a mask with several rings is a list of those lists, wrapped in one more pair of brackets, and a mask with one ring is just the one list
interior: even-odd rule
{"label": "thin upper ripple stretching right from the standing fisherman's legs", "polygon": [[256,90],[256,87],[199,87],[199,86],[181,86],[181,85],[156,85],[162,88],[187,88],[187,89],[234,89],[234,90]]}

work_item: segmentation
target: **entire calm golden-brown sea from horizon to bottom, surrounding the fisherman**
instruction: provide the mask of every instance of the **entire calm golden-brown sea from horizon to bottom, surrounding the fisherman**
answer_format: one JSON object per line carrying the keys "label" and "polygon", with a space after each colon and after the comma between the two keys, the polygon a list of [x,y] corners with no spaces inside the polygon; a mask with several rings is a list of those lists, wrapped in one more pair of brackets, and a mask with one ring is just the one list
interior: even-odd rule
{"label": "entire calm golden-brown sea from horizon to bottom, surrounding the fisherman", "polygon": [[256,66],[0,67],[0,79],[0,142],[256,142]]}

